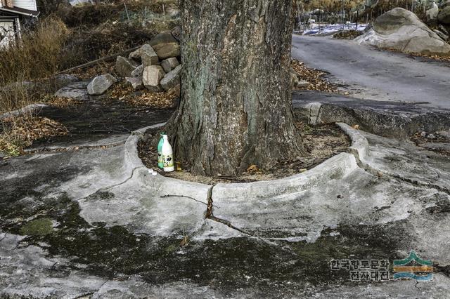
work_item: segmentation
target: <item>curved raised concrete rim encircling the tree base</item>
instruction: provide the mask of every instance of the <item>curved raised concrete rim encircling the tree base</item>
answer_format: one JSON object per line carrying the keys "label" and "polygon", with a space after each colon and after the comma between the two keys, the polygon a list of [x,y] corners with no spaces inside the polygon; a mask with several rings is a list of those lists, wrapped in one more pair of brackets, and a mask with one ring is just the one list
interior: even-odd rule
{"label": "curved raised concrete rim encircling the tree base", "polygon": [[[150,128],[158,128],[164,124],[148,126],[135,131],[127,140],[125,144],[125,168],[136,171],[139,181],[146,185],[146,187],[153,187],[157,190],[173,190],[176,195],[183,195],[187,197],[195,197],[199,200],[207,200],[207,191],[210,185],[200,184],[196,182],[187,182],[184,180],[177,180],[174,178],[165,178],[162,175],[149,175],[148,168],[143,165],[138,156],[137,143]],[[212,197],[214,198],[233,198],[233,199],[264,199],[275,197],[279,194],[290,194],[308,190],[328,180],[340,179],[352,173],[358,168],[357,161],[354,154],[365,154],[368,142],[363,135],[355,135],[354,132],[348,130],[347,125],[340,124],[341,128],[348,134],[351,133],[352,147],[350,150],[352,154],[340,153],[330,159],[324,161],[318,166],[300,173],[292,175],[288,178],[282,178],[271,181],[248,182],[248,183],[231,183],[231,184],[217,184],[214,186]],[[138,169],[139,168],[139,169]],[[159,192],[158,192],[159,193]],[[198,197],[200,195],[203,197]]]}

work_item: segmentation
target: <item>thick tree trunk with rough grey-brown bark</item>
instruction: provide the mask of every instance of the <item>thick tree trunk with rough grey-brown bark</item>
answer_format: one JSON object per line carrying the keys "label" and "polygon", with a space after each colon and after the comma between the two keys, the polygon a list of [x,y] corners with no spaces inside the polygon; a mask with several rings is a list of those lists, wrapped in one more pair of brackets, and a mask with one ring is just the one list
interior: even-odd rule
{"label": "thick tree trunk with rough grey-brown bark", "polygon": [[304,154],[291,13],[292,0],[181,0],[181,102],[167,128],[193,173],[233,175]]}

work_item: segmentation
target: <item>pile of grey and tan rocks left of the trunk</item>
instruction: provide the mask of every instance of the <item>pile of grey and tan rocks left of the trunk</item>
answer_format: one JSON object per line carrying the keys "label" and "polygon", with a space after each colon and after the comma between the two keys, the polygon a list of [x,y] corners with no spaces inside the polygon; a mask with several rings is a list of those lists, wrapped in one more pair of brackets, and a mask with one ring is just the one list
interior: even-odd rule
{"label": "pile of grey and tan rocks left of the trunk", "polygon": [[[128,58],[117,56],[117,74],[134,90],[147,88],[153,92],[174,91],[179,95],[181,65],[176,30],[158,34],[148,44],[131,52]],[[117,79],[111,74],[98,76],[89,83],[88,93],[101,95],[115,82]]]}

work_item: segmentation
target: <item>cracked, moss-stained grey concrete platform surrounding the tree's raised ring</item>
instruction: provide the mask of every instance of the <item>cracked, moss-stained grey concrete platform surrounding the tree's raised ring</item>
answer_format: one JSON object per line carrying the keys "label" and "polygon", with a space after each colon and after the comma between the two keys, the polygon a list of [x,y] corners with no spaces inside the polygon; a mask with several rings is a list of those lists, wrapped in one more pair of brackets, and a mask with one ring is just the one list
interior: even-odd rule
{"label": "cracked, moss-stained grey concrete platform surrounding the tree's raised ring", "polygon": [[[340,126],[349,152],[242,185],[151,175],[141,131],[113,147],[1,160],[0,295],[444,298],[450,158]],[[392,263],[411,250],[433,261],[432,281],[330,270],[333,259]]]}

